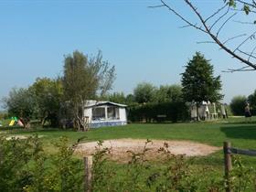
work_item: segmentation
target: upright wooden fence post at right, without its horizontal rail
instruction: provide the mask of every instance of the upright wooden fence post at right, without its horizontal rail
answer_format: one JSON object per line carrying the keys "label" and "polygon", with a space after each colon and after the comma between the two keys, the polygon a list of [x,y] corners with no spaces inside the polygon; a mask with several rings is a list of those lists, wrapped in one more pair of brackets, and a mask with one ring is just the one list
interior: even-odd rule
{"label": "upright wooden fence post at right, without its horizontal rail", "polygon": [[229,172],[232,169],[232,162],[231,162],[231,154],[229,153],[229,148],[231,144],[229,142],[224,142],[223,144],[223,152],[224,152],[224,166],[225,166],[225,178],[226,178],[226,192],[232,192],[230,187],[230,180],[229,180]]}

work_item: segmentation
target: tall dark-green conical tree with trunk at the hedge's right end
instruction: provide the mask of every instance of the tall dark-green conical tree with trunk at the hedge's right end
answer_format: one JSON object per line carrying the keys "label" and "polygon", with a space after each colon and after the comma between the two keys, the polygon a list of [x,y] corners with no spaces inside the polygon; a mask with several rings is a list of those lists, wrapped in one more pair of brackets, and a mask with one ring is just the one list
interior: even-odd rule
{"label": "tall dark-green conical tree with trunk at the hedge's right end", "polygon": [[196,102],[197,114],[200,102],[215,102],[223,97],[220,94],[220,76],[214,77],[213,72],[213,66],[209,60],[196,52],[193,59],[188,61],[185,72],[182,73],[183,97],[185,101]]}

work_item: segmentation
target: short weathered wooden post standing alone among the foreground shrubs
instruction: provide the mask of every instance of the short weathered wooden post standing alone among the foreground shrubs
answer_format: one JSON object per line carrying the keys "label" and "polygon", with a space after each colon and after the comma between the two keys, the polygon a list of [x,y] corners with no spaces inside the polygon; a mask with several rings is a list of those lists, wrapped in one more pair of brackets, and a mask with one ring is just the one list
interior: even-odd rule
{"label": "short weathered wooden post standing alone among the foreground shrubs", "polygon": [[92,156],[83,157],[84,163],[84,192],[91,192]]}

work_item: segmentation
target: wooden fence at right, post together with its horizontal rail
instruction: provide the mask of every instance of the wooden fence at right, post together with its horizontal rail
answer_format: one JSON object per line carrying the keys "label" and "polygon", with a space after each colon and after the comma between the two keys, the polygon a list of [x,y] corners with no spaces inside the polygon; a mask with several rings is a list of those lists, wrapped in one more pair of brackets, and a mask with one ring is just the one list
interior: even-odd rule
{"label": "wooden fence at right, post together with its horizontal rail", "polygon": [[232,169],[231,154],[256,156],[256,150],[238,149],[238,148],[232,147],[229,142],[224,142],[223,152],[224,152],[225,178],[227,182],[226,192],[232,192],[232,189],[230,186],[230,178],[229,178],[229,172]]}

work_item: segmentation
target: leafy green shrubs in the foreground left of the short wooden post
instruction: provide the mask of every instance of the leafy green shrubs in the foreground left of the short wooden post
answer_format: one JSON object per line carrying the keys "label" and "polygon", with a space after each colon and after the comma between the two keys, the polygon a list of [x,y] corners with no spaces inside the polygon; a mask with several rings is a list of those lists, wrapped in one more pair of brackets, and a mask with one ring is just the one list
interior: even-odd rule
{"label": "leafy green shrubs in the foreground left of the short wooden post", "polygon": [[82,191],[81,162],[74,159],[74,148],[67,138],[57,146],[57,155],[49,156],[37,135],[24,140],[1,136],[1,191]]}

